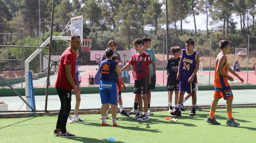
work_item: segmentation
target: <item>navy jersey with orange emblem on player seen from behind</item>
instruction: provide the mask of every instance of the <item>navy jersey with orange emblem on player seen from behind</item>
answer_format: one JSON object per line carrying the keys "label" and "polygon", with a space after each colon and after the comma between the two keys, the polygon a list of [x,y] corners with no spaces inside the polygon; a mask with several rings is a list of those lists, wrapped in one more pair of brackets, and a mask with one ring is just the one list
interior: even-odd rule
{"label": "navy jersey with orange emblem on player seen from behind", "polygon": [[106,81],[114,81],[118,84],[118,77],[115,72],[117,62],[113,60],[104,60],[99,63],[99,72],[100,72],[100,79]]}

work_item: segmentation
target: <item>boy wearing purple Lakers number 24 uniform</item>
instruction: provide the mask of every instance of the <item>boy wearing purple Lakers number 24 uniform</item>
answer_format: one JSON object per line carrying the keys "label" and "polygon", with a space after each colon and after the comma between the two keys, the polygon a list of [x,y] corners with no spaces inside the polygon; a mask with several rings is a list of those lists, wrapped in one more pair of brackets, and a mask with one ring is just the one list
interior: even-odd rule
{"label": "boy wearing purple Lakers number 24 uniform", "polygon": [[179,99],[178,108],[171,115],[181,116],[181,107],[185,91],[192,95],[192,108],[190,116],[195,116],[196,106],[196,73],[199,69],[199,54],[195,50],[194,40],[185,41],[186,49],[182,49],[182,56],[179,61],[177,80],[179,79]]}

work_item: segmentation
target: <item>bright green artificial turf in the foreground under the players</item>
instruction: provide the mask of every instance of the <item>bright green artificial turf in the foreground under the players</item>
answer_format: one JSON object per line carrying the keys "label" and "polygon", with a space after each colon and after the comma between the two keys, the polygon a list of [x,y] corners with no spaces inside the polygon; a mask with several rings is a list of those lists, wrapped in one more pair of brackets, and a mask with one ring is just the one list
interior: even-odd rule
{"label": "bright green artificial turf in the foreground under the players", "polygon": [[[233,117],[238,127],[226,125],[226,109],[217,109],[215,116],[221,125],[211,125],[205,120],[209,109],[196,111],[196,116],[172,116],[168,111],[154,112],[150,121],[139,122],[131,117],[118,116],[120,126],[112,126],[112,117],[106,119],[111,126],[101,126],[100,114],[80,115],[85,122],[67,124],[67,131],[75,138],[53,135],[57,116],[0,119],[0,142],[256,142],[255,108],[234,108]],[[73,115],[72,115],[73,117]],[[164,117],[174,117],[177,122]]]}

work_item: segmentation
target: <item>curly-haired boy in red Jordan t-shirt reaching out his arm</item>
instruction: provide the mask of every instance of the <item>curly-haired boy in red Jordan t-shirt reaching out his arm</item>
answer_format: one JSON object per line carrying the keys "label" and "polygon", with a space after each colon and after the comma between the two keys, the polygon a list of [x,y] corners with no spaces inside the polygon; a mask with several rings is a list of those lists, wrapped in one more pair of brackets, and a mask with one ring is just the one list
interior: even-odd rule
{"label": "curly-haired boy in red Jordan t-shirt reaching out his arm", "polygon": [[[135,50],[138,53],[132,55],[131,60],[125,65],[121,71],[129,68],[130,65],[135,65],[135,80],[134,80],[134,91],[133,93],[137,94],[138,103],[139,103],[139,111],[138,114],[132,118],[137,121],[149,121],[148,112],[147,112],[147,94],[148,94],[148,86],[151,83],[150,75],[150,64],[151,59],[150,55],[142,50],[142,40],[135,39],[133,40],[133,45]],[[143,101],[142,101],[143,100]],[[142,103],[144,102],[144,115],[142,114]]]}

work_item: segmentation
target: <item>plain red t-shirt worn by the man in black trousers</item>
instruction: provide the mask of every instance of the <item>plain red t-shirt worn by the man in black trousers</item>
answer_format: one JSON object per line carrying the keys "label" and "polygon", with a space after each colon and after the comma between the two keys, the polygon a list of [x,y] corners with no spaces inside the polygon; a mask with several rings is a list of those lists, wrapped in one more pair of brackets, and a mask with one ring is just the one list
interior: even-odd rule
{"label": "plain red t-shirt worn by the man in black trousers", "polygon": [[61,55],[61,60],[59,64],[58,76],[55,82],[55,87],[61,89],[73,89],[71,84],[69,83],[68,78],[66,77],[66,69],[65,65],[71,65],[71,75],[73,77],[74,83],[76,81],[76,52],[72,52],[71,49],[67,49]]}

